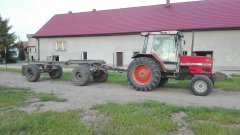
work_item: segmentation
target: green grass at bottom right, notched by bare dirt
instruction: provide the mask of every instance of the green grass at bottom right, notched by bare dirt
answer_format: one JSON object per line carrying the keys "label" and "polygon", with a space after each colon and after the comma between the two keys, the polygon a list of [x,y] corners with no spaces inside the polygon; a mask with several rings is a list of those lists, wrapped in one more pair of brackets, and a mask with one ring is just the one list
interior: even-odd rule
{"label": "green grass at bottom right, notched by bare dirt", "polygon": [[[156,101],[143,103],[97,105],[106,115],[102,134],[168,134],[177,130],[170,118],[172,113],[185,112],[186,122],[196,135],[239,135],[240,110],[206,107],[176,107]],[[201,122],[199,122],[201,121]],[[232,125],[238,127],[232,127]]]}

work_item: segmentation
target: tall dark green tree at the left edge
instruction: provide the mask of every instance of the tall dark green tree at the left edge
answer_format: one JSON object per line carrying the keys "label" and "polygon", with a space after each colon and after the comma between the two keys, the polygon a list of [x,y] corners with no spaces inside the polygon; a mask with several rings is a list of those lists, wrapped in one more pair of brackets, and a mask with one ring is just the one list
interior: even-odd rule
{"label": "tall dark green tree at the left edge", "polygon": [[[8,25],[9,19],[3,19],[0,15],[0,54],[2,58],[7,58],[10,60],[11,54],[14,53],[10,51],[15,47],[14,41],[17,36],[14,32],[10,32],[12,26]],[[7,55],[5,56],[5,49]]]}

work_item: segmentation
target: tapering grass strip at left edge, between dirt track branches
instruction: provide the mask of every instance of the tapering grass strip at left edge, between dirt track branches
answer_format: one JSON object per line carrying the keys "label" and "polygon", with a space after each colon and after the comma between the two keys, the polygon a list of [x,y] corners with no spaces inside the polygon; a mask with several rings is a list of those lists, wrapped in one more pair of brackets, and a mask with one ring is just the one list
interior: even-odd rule
{"label": "tapering grass strip at left edge, between dirt track branches", "polygon": [[0,109],[11,106],[20,106],[38,98],[41,102],[55,101],[64,102],[66,99],[59,98],[53,93],[34,93],[24,88],[10,88],[0,86]]}

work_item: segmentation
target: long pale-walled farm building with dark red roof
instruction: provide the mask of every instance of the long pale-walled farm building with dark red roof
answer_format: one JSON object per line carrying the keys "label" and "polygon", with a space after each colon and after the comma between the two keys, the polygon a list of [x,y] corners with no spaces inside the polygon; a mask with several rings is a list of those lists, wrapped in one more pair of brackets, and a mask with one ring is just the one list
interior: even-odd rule
{"label": "long pale-walled farm building with dark red roof", "polygon": [[126,68],[144,43],[141,32],[183,32],[185,53],[211,55],[216,69],[240,69],[240,1],[205,0],[57,14],[34,35],[37,60],[103,59]]}

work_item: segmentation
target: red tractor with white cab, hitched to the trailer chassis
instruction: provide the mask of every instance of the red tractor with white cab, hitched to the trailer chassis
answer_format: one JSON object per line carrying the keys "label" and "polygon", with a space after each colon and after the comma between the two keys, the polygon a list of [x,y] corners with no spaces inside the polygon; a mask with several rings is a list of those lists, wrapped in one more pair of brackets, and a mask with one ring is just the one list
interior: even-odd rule
{"label": "red tractor with white cab, hitched to the trailer chassis", "polygon": [[128,82],[136,90],[163,86],[168,78],[191,79],[190,90],[205,96],[213,89],[213,58],[183,55],[183,34],[178,31],[146,32],[143,51],[128,66]]}

